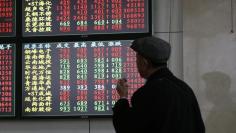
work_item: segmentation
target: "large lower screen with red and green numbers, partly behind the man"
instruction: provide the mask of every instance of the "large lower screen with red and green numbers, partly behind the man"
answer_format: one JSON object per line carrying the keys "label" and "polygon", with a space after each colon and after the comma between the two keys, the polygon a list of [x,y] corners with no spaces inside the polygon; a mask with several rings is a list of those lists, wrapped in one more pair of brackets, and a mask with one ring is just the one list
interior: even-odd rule
{"label": "large lower screen with red and green numbers, partly behind the man", "polygon": [[127,79],[129,98],[144,83],[130,43],[25,43],[23,116],[111,115],[117,79]]}

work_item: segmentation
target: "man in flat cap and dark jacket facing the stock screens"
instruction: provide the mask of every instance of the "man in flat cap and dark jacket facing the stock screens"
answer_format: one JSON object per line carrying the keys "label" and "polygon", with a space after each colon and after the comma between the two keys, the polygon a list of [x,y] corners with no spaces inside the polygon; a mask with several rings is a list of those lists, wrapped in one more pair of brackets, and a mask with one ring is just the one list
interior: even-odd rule
{"label": "man in flat cap and dark jacket facing the stock screens", "polygon": [[137,68],[144,86],[127,100],[128,84],[117,83],[120,99],[113,108],[116,133],[204,133],[199,105],[192,89],[167,68],[170,44],[156,37],[135,40]]}

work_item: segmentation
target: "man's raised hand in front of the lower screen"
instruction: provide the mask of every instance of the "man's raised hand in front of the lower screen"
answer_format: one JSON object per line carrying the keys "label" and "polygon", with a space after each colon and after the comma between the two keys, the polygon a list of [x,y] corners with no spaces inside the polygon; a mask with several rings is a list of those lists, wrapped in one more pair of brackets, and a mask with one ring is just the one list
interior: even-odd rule
{"label": "man's raised hand in front of the lower screen", "polygon": [[116,86],[120,98],[128,98],[128,84],[126,79],[119,79]]}

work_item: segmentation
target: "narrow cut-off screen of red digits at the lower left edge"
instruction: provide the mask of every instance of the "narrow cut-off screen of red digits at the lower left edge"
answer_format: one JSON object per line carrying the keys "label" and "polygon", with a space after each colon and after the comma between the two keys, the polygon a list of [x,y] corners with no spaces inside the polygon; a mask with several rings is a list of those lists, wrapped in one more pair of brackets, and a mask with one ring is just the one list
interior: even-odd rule
{"label": "narrow cut-off screen of red digits at the lower left edge", "polygon": [[14,45],[0,44],[0,117],[15,115]]}

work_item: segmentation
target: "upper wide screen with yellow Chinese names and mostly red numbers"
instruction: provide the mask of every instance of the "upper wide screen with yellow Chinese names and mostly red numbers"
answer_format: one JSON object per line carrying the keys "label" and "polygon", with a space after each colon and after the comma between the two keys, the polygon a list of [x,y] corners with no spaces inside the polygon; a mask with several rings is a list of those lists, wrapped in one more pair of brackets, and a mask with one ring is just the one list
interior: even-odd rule
{"label": "upper wide screen with yellow Chinese names and mostly red numbers", "polygon": [[23,35],[147,33],[149,0],[23,0]]}

